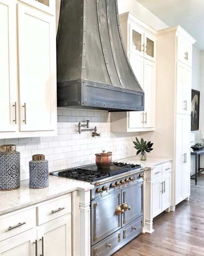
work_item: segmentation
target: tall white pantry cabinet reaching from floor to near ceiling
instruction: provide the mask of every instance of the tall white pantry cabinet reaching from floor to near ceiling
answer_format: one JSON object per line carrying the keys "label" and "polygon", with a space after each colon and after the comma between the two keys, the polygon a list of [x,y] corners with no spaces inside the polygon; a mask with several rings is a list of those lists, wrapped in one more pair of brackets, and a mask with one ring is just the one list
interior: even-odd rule
{"label": "tall white pantry cabinet reaching from floor to near ceiling", "polygon": [[191,37],[180,26],[157,31],[157,153],[172,157],[172,209],[190,196]]}

